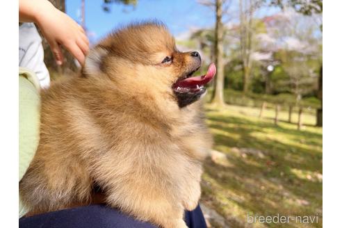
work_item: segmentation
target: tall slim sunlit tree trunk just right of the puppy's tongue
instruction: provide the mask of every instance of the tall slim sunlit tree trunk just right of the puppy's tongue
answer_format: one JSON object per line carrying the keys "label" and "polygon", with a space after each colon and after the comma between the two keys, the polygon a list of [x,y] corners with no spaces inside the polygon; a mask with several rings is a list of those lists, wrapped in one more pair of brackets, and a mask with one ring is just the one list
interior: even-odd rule
{"label": "tall slim sunlit tree trunk just right of the puppy's tongue", "polygon": [[225,99],[223,97],[223,88],[225,83],[224,65],[223,65],[223,25],[222,25],[222,0],[216,0],[216,26],[215,26],[215,65],[217,68],[216,80],[213,90],[213,104],[223,106]]}

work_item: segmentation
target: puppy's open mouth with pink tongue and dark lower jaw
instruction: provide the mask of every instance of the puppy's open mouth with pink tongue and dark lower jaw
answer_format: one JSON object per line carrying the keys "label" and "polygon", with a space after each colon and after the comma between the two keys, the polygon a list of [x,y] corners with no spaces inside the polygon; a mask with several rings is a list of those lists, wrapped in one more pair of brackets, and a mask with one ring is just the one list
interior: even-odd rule
{"label": "puppy's open mouth with pink tongue and dark lower jaw", "polygon": [[199,99],[201,95],[206,92],[204,85],[209,83],[216,74],[216,67],[213,63],[209,65],[206,74],[202,76],[191,77],[197,70],[190,72],[190,74],[177,80],[172,85],[172,90],[177,96],[180,108],[197,101],[197,99]]}

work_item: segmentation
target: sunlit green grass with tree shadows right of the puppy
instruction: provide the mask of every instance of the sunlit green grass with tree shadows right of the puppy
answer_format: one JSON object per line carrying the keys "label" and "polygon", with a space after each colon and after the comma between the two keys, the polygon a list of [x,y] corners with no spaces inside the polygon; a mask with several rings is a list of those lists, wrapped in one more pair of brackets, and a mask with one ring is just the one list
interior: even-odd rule
{"label": "sunlit green grass with tree shadows right of the puppy", "polygon": [[[266,109],[261,119],[258,115],[259,108],[206,105],[214,149],[227,159],[204,163],[202,204],[233,228],[322,227],[322,128],[314,127],[312,113],[304,113],[302,131],[286,122],[286,111],[279,114],[278,126],[273,124],[272,109]],[[248,225],[247,212],[320,217],[318,223],[306,225]]]}

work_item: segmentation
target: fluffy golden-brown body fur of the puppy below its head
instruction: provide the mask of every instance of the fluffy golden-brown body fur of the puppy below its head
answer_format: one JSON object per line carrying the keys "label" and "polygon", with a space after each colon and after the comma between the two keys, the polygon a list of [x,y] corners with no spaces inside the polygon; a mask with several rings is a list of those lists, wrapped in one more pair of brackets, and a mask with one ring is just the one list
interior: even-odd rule
{"label": "fluffy golden-brown body fur of the puppy below its head", "polygon": [[108,204],[142,220],[154,210],[147,206],[194,209],[211,147],[199,102],[161,108],[79,84],[42,94],[40,144],[20,183],[24,203],[33,211],[63,209],[88,200],[96,183]]}

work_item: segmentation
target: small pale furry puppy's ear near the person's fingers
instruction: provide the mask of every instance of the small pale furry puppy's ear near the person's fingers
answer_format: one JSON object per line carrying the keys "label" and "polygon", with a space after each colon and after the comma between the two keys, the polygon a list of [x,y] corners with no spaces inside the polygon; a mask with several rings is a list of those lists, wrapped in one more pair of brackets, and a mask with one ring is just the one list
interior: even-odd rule
{"label": "small pale furry puppy's ear near the person's fingers", "polygon": [[82,69],[82,76],[99,74],[102,72],[104,57],[107,56],[107,54],[108,50],[103,47],[95,47],[91,49],[86,57],[86,63]]}

